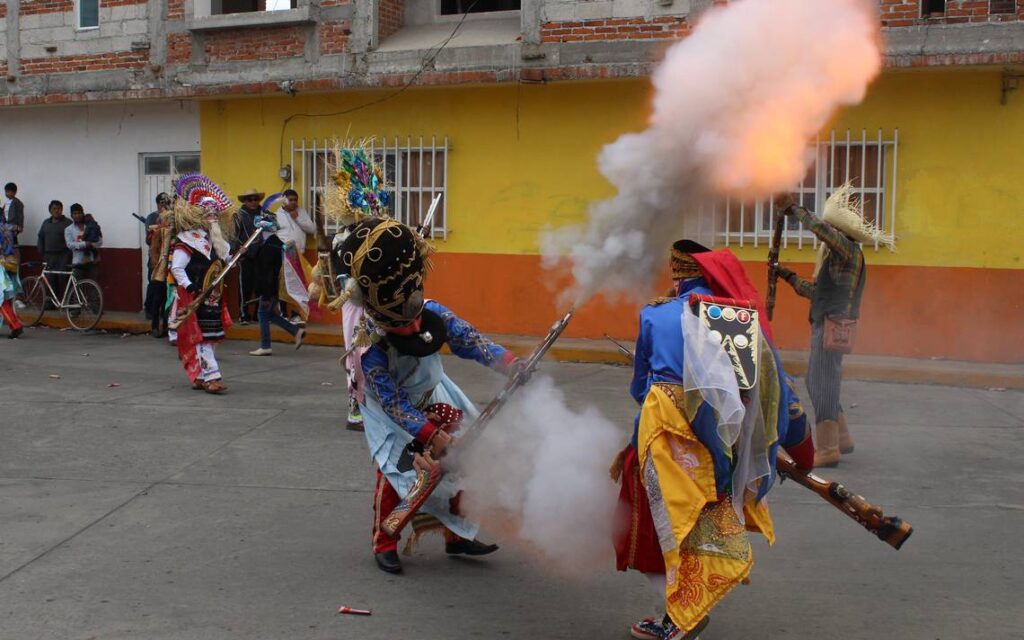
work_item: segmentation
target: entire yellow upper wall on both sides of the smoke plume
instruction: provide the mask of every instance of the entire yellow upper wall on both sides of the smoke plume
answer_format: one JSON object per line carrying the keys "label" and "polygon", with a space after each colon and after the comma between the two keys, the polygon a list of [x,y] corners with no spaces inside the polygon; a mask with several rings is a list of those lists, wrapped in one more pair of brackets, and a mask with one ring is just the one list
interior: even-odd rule
{"label": "entire yellow upper wall on both sides of the smoke plume", "polygon": [[[998,70],[888,72],[865,102],[833,126],[899,129],[898,252],[879,264],[1022,268],[1024,93],[999,104]],[[601,146],[643,127],[641,80],[411,89],[358,112],[325,118],[385,95],[211,100],[201,111],[203,164],[229,193],[280,188],[289,142],[302,137],[447,135],[446,252],[535,254],[545,226],[583,217],[610,187],[597,172]],[[830,127],[829,127],[830,128]],[[765,248],[738,249],[763,260]],[[809,250],[783,259],[811,261]]]}

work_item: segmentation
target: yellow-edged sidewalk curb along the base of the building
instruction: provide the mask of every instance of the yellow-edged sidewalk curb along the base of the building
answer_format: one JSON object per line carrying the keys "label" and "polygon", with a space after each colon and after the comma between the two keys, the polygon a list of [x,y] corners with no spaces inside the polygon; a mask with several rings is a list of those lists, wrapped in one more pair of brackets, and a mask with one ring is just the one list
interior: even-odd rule
{"label": "yellow-edged sidewalk curb along the base of the building", "polygon": [[[96,329],[112,333],[147,334],[148,321],[141,317],[100,318]],[[63,317],[43,317],[42,326],[54,329],[67,328]],[[290,343],[291,336],[273,329],[274,342]],[[229,340],[259,341],[259,327],[256,325],[234,325],[227,331]],[[490,338],[517,355],[526,355],[537,346],[540,338],[535,336],[512,336],[492,334]],[[342,345],[341,327],[333,325],[309,325],[303,344],[316,346]],[[632,343],[627,346],[632,347]],[[782,365],[794,376],[807,373],[806,351],[781,351]],[[629,360],[610,342],[586,338],[563,338],[548,351],[548,358],[563,362],[585,362],[595,365],[628,366]],[[896,358],[871,355],[850,355],[844,359],[843,377],[846,380],[869,382],[899,382],[910,384],[937,384],[953,387],[979,389],[1024,390],[1024,365],[998,365],[985,362],[958,362],[952,360]]]}

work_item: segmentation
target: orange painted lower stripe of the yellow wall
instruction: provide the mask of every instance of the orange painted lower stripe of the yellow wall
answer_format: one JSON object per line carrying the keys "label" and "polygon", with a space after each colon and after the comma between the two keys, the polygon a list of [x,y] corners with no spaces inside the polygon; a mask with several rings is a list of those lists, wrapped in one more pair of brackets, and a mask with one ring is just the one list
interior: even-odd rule
{"label": "orange painted lower stripe of the yellow wall", "polygon": [[[552,273],[537,256],[441,253],[427,279],[429,297],[451,306],[481,331],[543,335],[568,307],[556,304]],[[744,262],[764,294],[763,262]],[[812,265],[797,265],[805,276]],[[943,357],[1024,362],[1024,274],[1014,269],[868,265],[856,352],[864,355]],[[670,281],[649,297],[658,295]],[[782,349],[806,349],[808,304],[780,282],[773,323]],[[641,304],[595,298],[584,305],[566,337],[633,338]]]}

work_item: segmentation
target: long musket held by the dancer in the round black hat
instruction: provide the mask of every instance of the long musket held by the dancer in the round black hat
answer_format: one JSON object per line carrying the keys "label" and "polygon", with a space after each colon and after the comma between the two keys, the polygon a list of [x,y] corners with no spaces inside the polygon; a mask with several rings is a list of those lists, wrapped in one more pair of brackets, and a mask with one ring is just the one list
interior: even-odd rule
{"label": "long musket held by the dancer in the round black hat", "polygon": [[[572,314],[575,313],[575,308],[569,309],[569,311],[562,316],[557,323],[555,323],[548,335],[544,337],[534,352],[530,353],[529,357],[526,358],[524,362],[517,366],[515,372],[509,377],[505,386],[502,390],[498,392],[498,395],[492,399],[480,415],[477,417],[476,421],[473,423],[472,428],[467,432],[465,436],[460,437],[457,440],[460,452],[465,452],[466,449],[472,445],[473,442],[480,437],[480,433],[483,429],[494,420],[494,417],[501,411],[512,394],[519,390],[526,382],[529,380],[537,366],[541,362],[541,358],[544,354],[548,352],[551,345],[558,340],[558,337],[562,335],[565,328],[568,326],[569,321],[572,319]],[[415,442],[415,440],[414,440]],[[407,454],[411,451],[407,447]],[[411,456],[403,456],[403,458],[411,458]],[[399,460],[398,468],[402,469],[402,461]],[[402,470],[408,470],[402,469]],[[445,469],[441,465],[431,465],[429,469],[417,469],[416,470],[416,483],[413,488],[409,492],[409,495],[402,499],[397,507],[391,511],[390,514],[384,519],[384,523],[381,525],[381,529],[391,537],[397,537],[404,528],[407,524],[413,519],[423,503],[430,498],[430,495],[437,488],[440,483],[441,478],[444,477]]]}

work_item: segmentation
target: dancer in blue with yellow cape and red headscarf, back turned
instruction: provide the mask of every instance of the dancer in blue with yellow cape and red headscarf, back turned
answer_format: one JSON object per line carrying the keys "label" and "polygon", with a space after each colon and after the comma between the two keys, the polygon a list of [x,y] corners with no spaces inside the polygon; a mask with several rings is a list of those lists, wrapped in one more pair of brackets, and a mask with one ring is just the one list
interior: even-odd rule
{"label": "dancer in blue with yellow cape and red headscarf, back turned", "polygon": [[[773,540],[770,515],[762,499],[774,480],[777,447],[784,446],[804,468],[810,468],[813,461],[803,409],[766,332],[762,331],[765,346],[761,356],[766,358],[762,372],[770,375],[761,376],[752,394],[767,395],[753,395],[743,412],[751,414],[753,421],[759,420],[756,416],[759,408],[777,408],[777,413],[766,413],[759,422],[752,423],[752,426],[761,424],[764,428],[744,430],[739,429],[737,423],[735,439],[727,444],[723,442],[723,425],[720,424],[723,414],[719,410],[723,407],[712,407],[709,396],[701,400],[702,389],[715,386],[705,386],[711,379],[709,371],[702,359],[695,357],[699,349],[691,348],[694,347],[691,340],[700,344],[700,336],[694,331],[699,323],[690,308],[690,297],[738,298],[746,297],[741,294],[748,290],[734,286],[745,284],[745,276],[736,268],[738,262],[733,265],[730,260],[707,258],[698,262],[695,258],[715,253],[691,241],[673,245],[671,267],[675,286],[668,296],[652,301],[640,312],[630,394],[641,411],[632,441],[612,471],[615,477],[621,473],[623,481],[620,494],[623,517],[616,525],[615,537],[616,565],[620,570],[632,568],[645,573],[655,589],[666,596],[667,611],[664,618],[647,617],[634,624],[630,630],[634,638],[695,639],[708,624],[708,611],[750,570],[753,562],[746,553],[750,547],[743,529],[759,530]],[[724,375],[732,378],[731,366]],[[691,390],[697,395],[691,395]],[[762,403],[758,397],[768,398],[768,401]],[[733,402],[734,408],[739,406],[738,400]],[[657,438],[651,435],[654,424],[663,430]],[[774,433],[775,437],[759,437],[759,431]],[[671,442],[671,447],[663,446],[659,451],[658,442],[663,440]],[[668,458],[666,454],[670,454]],[[695,463],[687,467],[687,474],[695,480],[689,486],[692,490],[687,492],[686,486],[672,484],[671,478],[657,475],[658,456],[676,463]],[[697,462],[706,457],[710,468]],[[650,464],[644,466],[644,460]],[[755,490],[751,490],[752,487]],[[648,500],[652,490],[653,498]],[[651,503],[655,501],[658,506],[652,509]],[[673,513],[667,505],[675,505],[677,512]],[[745,523],[738,519],[739,513],[745,517]],[[681,541],[682,554],[679,549],[667,550],[663,544],[659,534],[665,530],[664,522],[668,520],[679,530],[689,532]],[[724,528],[723,522],[726,523]],[[691,583],[699,584],[702,572],[712,570],[700,564],[699,554],[685,554],[688,548],[701,547],[700,536],[707,531],[713,531],[716,540],[729,541],[725,547],[739,551],[735,557],[726,557],[720,566],[714,567],[718,580],[715,589],[697,590],[701,597],[687,598],[685,594],[692,595],[686,591],[687,587]],[[666,566],[671,569],[668,585]]]}

